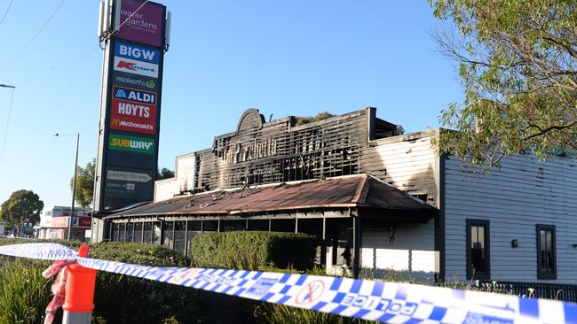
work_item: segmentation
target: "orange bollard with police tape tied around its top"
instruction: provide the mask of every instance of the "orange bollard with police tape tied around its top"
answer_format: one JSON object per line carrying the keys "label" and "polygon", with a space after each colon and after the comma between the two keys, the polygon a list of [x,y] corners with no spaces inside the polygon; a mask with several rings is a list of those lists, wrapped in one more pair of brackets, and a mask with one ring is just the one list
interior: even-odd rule
{"label": "orange bollard with police tape tied around its top", "polygon": [[[90,248],[81,245],[78,257],[86,258]],[[66,294],[64,297],[63,324],[91,324],[92,310],[94,309],[94,284],[96,270],[85,268],[78,264],[67,267]]]}

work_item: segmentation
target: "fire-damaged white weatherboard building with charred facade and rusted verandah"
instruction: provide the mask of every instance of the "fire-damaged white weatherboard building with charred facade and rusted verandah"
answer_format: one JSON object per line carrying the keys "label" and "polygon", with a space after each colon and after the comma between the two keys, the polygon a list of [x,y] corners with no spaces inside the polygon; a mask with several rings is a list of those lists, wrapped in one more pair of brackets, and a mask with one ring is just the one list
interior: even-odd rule
{"label": "fire-damaged white weatherboard building with charred facade and rusted verandah", "polygon": [[438,129],[399,134],[375,108],[297,125],[249,109],[211,148],[177,157],[154,202],[97,221],[93,239],[190,253],[200,233],[285,231],[317,236],[328,273],[577,282],[557,258],[575,251],[575,185],[559,178],[577,178],[574,160],[515,156],[475,172],[436,153]]}

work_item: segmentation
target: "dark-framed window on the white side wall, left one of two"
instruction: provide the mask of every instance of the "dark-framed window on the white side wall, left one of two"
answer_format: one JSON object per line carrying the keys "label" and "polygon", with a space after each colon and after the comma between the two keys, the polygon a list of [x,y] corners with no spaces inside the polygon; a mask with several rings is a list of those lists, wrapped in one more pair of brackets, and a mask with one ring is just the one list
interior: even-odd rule
{"label": "dark-framed window on the white side wall, left one of two", "polygon": [[489,221],[467,220],[467,279],[491,277]]}

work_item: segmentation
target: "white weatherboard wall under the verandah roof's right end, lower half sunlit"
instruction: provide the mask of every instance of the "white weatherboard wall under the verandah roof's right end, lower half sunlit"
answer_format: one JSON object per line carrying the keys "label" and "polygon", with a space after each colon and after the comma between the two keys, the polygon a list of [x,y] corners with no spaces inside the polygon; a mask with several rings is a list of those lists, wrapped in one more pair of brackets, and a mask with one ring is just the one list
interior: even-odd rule
{"label": "white weatherboard wall under the verandah roof's right end, lower half sunlit", "polygon": [[404,279],[434,281],[439,252],[434,250],[435,221],[401,224],[390,240],[389,228],[362,228],[361,266],[375,278],[399,272]]}

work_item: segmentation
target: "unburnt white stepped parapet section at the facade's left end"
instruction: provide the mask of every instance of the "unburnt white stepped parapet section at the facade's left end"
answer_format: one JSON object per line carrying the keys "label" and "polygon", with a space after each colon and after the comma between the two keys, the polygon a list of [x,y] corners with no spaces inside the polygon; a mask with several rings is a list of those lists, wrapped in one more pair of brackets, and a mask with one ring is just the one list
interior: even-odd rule
{"label": "unburnt white stepped parapet section at the facade's left end", "polygon": [[154,202],[170,199],[186,190],[194,189],[194,153],[177,157],[174,178],[154,182]]}

